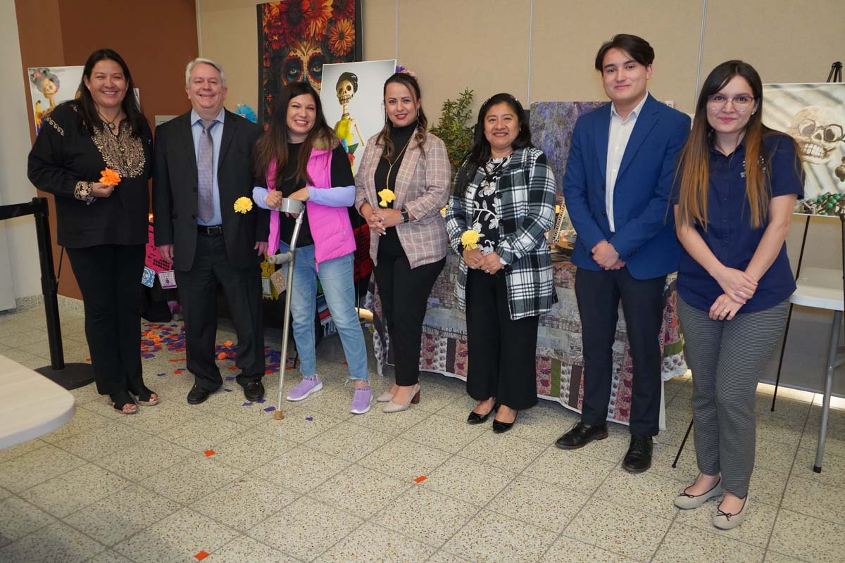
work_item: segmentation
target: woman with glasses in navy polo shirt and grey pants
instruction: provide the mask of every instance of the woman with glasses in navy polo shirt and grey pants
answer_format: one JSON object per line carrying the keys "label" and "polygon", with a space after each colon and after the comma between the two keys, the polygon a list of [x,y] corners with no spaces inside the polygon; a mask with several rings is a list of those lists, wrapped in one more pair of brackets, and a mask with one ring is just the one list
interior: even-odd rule
{"label": "woman with glasses in navy polo shirt and grey pants", "polygon": [[675,181],[684,252],[678,312],[693,374],[701,474],[675,499],[724,494],[713,525],[739,526],[754,468],[757,380],[780,341],[795,290],[786,236],[804,176],[795,143],[763,125],[760,75],[722,62],[706,78]]}

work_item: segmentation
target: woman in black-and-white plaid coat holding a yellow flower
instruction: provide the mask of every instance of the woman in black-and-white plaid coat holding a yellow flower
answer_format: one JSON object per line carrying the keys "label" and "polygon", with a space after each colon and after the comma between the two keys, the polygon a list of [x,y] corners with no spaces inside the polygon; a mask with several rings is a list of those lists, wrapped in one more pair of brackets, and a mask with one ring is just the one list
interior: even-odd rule
{"label": "woman in black-and-white plaid coat holding a yellow flower", "polygon": [[520,102],[494,95],[455,176],[446,230],[462,258],[455,296],[466,309],[466,390],[478,401],[467,422],[481,424],[498,409],[497,433],[537,404],[537,324],[554,295],[545,236],[554,198],[553,173],[531,143]]}

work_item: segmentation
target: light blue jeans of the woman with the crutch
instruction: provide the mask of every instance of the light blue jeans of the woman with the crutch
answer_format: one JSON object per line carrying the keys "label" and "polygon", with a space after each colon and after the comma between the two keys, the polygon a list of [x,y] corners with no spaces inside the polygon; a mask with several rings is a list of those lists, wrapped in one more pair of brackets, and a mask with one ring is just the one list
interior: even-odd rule
{"label": "light blue jeans of the woman with the crutch", "polygon": [[[281,243],[281,252],[288,246]],[[293,293],[291,294],[291,314],[293,339],[299,352],[299,371],[304,377],[317,375],[317,358],[314,351],[314,315],[317,309],[317,277],[323,285],[326,305],[329,306],[332,321],[341,336],[343,353],[349,365],[351,379],[369,380],[367,371],[367,344],[358,314],[355,310],[355,283],[353,266],[355,257],[352,253],[329,260],[319,265],[314,261],[314,246],[297,248],[296,263],[293,270]]]}

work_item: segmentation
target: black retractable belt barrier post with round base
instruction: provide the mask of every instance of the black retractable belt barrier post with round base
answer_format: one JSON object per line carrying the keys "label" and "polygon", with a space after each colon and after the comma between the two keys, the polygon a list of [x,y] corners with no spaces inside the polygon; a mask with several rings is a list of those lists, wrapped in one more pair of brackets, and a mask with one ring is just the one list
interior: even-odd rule
{"label": "black retractable belt barrier post with round base", "polygon": [[62,349],[62,326],[58,318],[58,281],[52,263],[52,241],[49,211],[46,198],[32,198],[30,203],[0,205],[0,221],[25,215],[35,216],[35,234],[38,236],[38,257],[41,263],[41,293],[44,295],[44,312],[47,317],[47,340],[50,343],[50,365],[36,369],[47,379],[65,389],[83,387],[94,381],[94,369],[89,364],[65,364]]}

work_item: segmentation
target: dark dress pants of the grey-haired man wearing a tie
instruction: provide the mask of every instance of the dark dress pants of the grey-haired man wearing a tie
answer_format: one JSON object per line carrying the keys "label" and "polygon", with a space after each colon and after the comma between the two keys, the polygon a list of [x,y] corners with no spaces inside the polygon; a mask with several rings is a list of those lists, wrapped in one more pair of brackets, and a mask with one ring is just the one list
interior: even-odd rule
{"label": "dark dress pants of the grey-haired man wearing a tie", "polygon": [[235,365],[241,369],[237,382],[243,386],[264,377],[259,264],[232,268],[223,235],[199,233],[194,265],[190,270],[177,270],[176,283],[185,317],[188,371],[194,374],[197,387],[213,392],[223,384],[215,362],[218,283],[226,293],[237,333]]}

